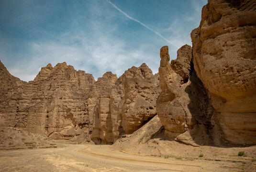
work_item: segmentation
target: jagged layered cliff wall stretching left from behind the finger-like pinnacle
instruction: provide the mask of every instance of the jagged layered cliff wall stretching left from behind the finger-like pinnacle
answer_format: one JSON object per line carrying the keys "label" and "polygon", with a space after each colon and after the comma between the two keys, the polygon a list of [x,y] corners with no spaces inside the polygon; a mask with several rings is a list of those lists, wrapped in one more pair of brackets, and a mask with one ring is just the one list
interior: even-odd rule
{"label": "jagged layered cliff wall stretching left from behind the finger-like pinnacle", "polygon": [[159,75],[146,64],[117,78],[91,74],[65,62],[42,67],[28,83],[0,63],[1,127],[16,127],[51,139],[113,143],[156,115]]}

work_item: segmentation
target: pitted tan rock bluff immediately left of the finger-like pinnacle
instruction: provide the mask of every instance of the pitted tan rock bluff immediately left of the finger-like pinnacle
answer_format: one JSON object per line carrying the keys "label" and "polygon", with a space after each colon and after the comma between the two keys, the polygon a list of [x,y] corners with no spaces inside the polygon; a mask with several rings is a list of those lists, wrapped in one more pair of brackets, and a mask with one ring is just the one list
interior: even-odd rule
{"label": "pitted tan rock bluff immediately left of the finger-like pinnacle", "polygon": [[145,120],[156,115],[156,98],[159,94],[158,75],[153,75],[146,64],[132,67],[120,77],[124,88],[121,100],[122,128],[133,133]]}

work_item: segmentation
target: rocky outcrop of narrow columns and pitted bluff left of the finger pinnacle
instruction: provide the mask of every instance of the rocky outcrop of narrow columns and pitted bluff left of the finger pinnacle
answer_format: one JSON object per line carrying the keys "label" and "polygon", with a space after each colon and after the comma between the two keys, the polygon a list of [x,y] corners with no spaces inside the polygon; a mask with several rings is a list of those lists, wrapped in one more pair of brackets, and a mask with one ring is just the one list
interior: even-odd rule
{"label": "rocky outcrop of narrow columns and pitted bluff left of the finger pinnacle", "polygon": [[113,143],[130,134],[156,115],[159,75],[146,64],[133,66],[120,76],[111,89],[100,93],[95,108],[91,139],[96,143]]}

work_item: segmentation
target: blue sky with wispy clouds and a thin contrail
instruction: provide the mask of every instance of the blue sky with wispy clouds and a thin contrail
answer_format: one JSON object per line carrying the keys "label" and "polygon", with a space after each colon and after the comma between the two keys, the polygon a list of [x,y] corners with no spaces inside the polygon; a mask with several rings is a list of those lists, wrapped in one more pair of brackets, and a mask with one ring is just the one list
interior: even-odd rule
{"label": "blue sky with wispy clouds and a thin contrail", "polygon": [[207,0],[0,0],[0,60],[23,81],[41,67],[67,62],[97,80],[171,59],[201,20]]}

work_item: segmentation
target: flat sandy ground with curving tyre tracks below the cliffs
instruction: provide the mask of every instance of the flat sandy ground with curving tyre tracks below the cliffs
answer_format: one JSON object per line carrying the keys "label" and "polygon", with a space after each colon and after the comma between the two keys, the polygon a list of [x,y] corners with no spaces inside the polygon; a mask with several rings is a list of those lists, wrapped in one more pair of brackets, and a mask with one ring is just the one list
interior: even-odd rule
{"label": "flat sandy ground with curving tyre tracks below the cliffs", "polygon": [[145,156],[110,145],[59,144],[57,148],[0,150],[1,172],[247,172],[251,161]]}

